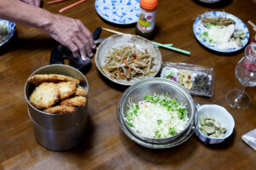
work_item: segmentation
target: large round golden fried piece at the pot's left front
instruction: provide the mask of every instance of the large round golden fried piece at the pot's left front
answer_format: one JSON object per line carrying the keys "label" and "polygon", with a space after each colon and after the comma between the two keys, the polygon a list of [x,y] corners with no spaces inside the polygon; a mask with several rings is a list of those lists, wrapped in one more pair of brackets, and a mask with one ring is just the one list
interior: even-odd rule
{"label": "large round golden fried piece at the pot's left front", "polygon": [[30,96],[30,103],[38,109],[46,109],[55,105],[60,93],[57,85],[53,82],[43,82]]}

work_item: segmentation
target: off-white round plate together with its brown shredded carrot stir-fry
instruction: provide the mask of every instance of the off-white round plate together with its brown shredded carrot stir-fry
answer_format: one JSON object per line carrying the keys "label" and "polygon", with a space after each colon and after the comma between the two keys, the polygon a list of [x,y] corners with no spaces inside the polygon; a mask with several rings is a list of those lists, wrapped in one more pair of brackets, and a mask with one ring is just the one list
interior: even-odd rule
{"label": "off-white round plate together with its brown shredded carrot stir-fry", "polygon": [[152,42],[130,34],[108,37],[97,49],[95,60],[102,75],[127,86],[155,77],[162,65],[160,51]]}

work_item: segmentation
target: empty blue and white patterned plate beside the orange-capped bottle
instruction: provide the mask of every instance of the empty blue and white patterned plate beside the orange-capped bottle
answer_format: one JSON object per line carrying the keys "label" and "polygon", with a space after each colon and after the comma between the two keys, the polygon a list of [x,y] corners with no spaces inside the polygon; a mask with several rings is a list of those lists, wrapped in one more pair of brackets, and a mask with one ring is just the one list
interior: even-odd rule
{"label": "empty blue and white patterned plate beside the orange-capped bottle", "polygon": [[97,13],[105,20],[119,25],[137,22],[140,0],[96,0]]}

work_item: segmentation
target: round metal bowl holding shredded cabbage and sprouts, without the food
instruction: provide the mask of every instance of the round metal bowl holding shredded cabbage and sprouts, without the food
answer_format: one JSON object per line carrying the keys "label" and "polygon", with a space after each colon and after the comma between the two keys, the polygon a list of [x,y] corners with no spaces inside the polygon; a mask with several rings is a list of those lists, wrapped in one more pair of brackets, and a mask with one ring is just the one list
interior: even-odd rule
{"label": "round metal bowl holding shredded cabbage and sprouts, without the food", "polygon": [[[139,101],[142,101],[144,99],[144,96],[147,94],[171,94],[172,98],[176,98],[178,102],[186,105],[189,122],[187,123],[187,126],[183,129],[182,132],[168,138],[153,139],[137,133],[135,130],[127,125],[127,123],[125,122],[125,111],[129,110],[129,100],[132,99],[133,102],[137,103]],[[188,90],[183,88],[183,86],[179,85],[177,82],[156,77],[137,82],[136,84],[125,90],[125,93],[122,95],[117,109],[118,119],[121,119],[121,121],[119,121],[120,127],[123,130],[127,129],[133,137],[139,139],[140,141],[151,144],[169,144],[177,139],[180,139],[181,137],[186,137],[184,133],[189,133],[191,131],[192,125],[196,122],[196,113],[197,110],[195,107],[195,102],[189,94]],[[127,134],[127,132],[125,133]],[[131,138],[130,135],[127,136]]]}

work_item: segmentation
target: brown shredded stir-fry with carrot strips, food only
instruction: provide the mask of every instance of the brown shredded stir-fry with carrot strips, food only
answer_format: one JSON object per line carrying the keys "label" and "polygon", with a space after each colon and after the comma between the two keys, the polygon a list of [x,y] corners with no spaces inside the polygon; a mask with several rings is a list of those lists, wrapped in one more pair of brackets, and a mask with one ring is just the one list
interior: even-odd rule
{"label": "brown shredded stir-fry with carrot strips, food only", "polygon": [[136,45],[109,48],[102,71],[114,79],[130,81],[134,78],[148,77],[156,70],[153,69],[155,59],[148,52],[140,51]]}

